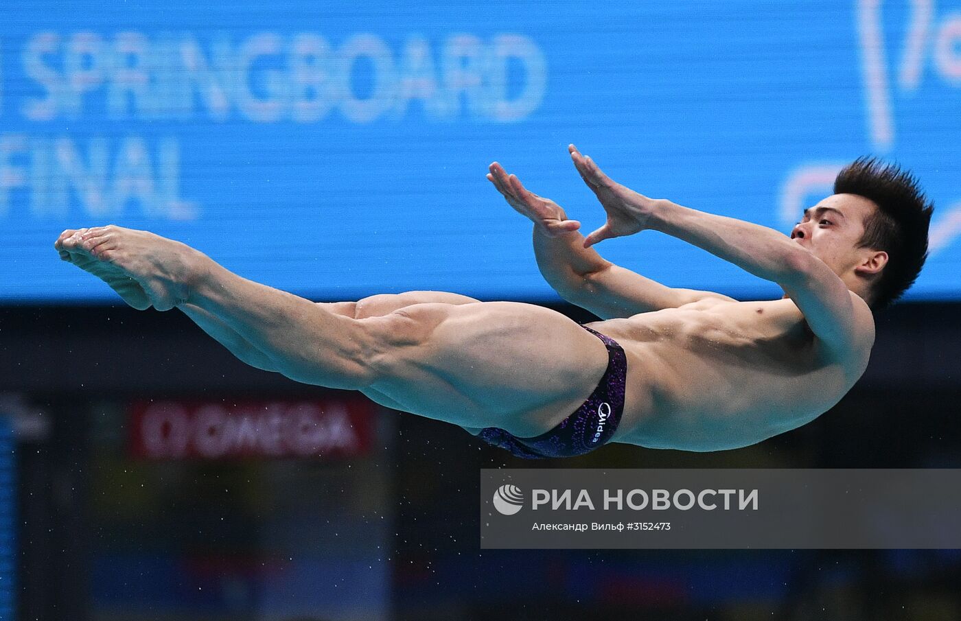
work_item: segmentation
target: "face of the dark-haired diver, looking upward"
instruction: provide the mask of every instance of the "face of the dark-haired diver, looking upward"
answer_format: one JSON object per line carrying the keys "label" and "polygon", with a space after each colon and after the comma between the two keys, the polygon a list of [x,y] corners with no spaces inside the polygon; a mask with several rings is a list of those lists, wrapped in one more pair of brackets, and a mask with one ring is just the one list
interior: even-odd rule
{"label": "face of the dark-haired diver, looking upward", "polygon": [[875,204],[863,196],[833,194],[804,210],[801,222],[791,230],[791,238],[843,276],[869,250],[858,248],[858,242],[864,235],[865,220],[876,210]]}

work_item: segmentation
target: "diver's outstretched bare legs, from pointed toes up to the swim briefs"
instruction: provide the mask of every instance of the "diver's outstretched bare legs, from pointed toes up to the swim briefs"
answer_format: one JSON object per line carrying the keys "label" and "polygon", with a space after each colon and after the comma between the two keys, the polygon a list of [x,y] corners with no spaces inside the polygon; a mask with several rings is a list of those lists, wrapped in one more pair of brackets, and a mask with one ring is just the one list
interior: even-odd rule
{"label": "diver's outstretched bare legs, from pointed toes up to the swim briefs", "polygon": [[147,232],[91,229],[62,245],[118,267],[158,310],[193,304],[208,311],[293,380],[369,387],[403,410],[464,427],[546,431],[553,424],[537,416],[559,422],[606,368],[599,339],[541,307],[429,303],[355,319],[243,279]]}

